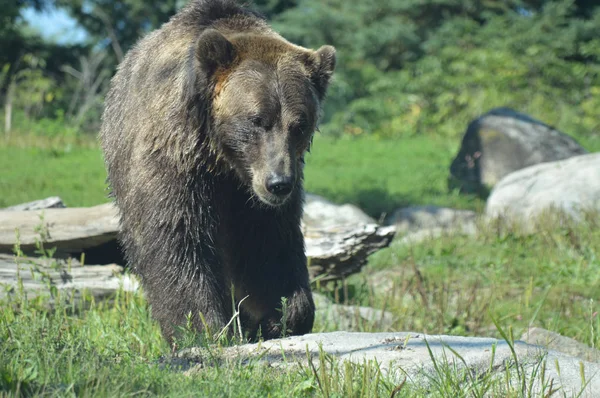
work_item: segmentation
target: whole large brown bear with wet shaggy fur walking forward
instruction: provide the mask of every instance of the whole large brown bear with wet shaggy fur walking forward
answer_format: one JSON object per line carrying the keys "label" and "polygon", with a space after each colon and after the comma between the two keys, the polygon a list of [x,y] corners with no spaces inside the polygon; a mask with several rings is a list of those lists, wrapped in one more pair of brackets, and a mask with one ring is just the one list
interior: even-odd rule
{"label": "whole large brown bear with wet shaggy fur walking forward", "polygon": [[334,67],[333,47],[291,44],[232,0],[192,1],[119,66],[100,140],[166,338],[218,332],[246,296],[251,339],[311,331],[303,165]]}

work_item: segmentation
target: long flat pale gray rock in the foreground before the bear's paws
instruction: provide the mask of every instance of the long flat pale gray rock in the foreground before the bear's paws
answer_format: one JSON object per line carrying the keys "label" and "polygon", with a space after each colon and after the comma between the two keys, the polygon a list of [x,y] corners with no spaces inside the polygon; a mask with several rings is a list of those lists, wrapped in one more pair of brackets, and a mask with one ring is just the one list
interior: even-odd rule
{"label": "long flat pale gray rock in the foreground before the bear's paws", "polygon": [[[527,380],[527,390],[523,391],[525,395],[540,396],[542,372],[539,365],[545,362],[543,374],[546,386],[552,382],[552,388],[559,389],[560,396],[575,396],[580,392],[580,397],[598,396],[599,364],[521,341],[514,343],[514,350],[518,358],[518,372],[524,374]],[[513,388],[519,388],[514,356],[509,345],[505,341],[492,338],[428,336],[406,332],[334,332],[229,347],[222,351],[222,355],[224,358],[255,358],[273,367],[286,368],[297,366],[299,362],[306,364],[309,357],[318,365],[315,358],[318,358],[321,352],[333,356],[338,361],[356,364],[375,360],[382,373],[397,383],[406,380],[407,383],[424,388],[431,386],[436,366],[439,368],[447,364],[452,367],[451,372],[468,371],[472,379],[484,377],[491,372],[492,377],[502,380],[503,383],[506,383],[506,369],[509,368],[509,382]],[[460,358],[455,353],[460,355]],[[432,356],[435,358],[435,364]],[[207,355],[202,349],[191,348],[180,351],[167,363],[181,370],[188,370],[196,364],[202,366],[203,358],[207,358]],[[582,380],[582,374],[585,380]]]}

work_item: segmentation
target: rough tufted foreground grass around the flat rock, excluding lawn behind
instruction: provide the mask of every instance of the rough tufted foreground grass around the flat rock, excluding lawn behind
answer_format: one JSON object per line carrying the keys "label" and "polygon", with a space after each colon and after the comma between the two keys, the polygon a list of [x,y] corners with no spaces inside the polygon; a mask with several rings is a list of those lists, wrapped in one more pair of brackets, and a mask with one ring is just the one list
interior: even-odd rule
{"label": "rough tufted foreground grass around the flat rock, excluding lawn behind", "polygon": [[[599,224],[599,215],[590,214],[583,223],[549,223],[529,236],[492,226],[475,237],[450,234],[410,246],[396,241],[373,255],[361,274],[317,290],[338,302],[390,311],[395,321],[389,330],[503,339],[541,326],[597,347]],[[377,279],[378,273],[384,275]],[[55,302],[68,303],[64,294]],[[314,330],[334,327],[317,324]],[[389,331],[378,322],[359,330]],[[188,334],[179,348],[199,345],[218,358],[220,347],[231,343]],[[49,310],[44,300],[27,300],[17,289],[0,304],[0,395],[373,397],[390,396],[400,386],[375,364],[344,364],[324,354],[315,369],[206,356],[202,368],[184,374],[160,366],[170,352],[139,294],[119,292],[111,302],[88,299]],[[519,383],[507,387],[505,377],[473,378],[450,356],[436,358],[429,390],[408,382],[395,396],[527,396]],[[515,369],[505,371],[515,377]]]}

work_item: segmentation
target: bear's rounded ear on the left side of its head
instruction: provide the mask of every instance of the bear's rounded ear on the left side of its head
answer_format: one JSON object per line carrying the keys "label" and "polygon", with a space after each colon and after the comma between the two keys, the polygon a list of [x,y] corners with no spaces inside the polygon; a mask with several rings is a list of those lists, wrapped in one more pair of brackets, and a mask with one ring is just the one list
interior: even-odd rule
{"label": "bear's rounded ear on the left side of its head", "polygon": [[196,59],[210,76],[219,68],[227,68],[235,60],[233,44],[215,29],[206,29],[196,44]]}

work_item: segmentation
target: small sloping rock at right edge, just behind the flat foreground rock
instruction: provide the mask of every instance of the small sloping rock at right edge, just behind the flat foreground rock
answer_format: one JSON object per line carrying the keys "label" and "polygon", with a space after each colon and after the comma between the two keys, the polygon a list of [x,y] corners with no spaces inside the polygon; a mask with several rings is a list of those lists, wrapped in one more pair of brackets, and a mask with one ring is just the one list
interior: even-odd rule
{"label": "small sloping rock at right edge, just behind the flat foreground rock", "polygon": [[529,344],[535,344],[550,350],[562,352],[590,362],[600,362],[600,351],[588,347],[577,340],[561,336],[542,328],[530,328],[523,333],[521,340]]}

